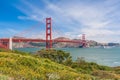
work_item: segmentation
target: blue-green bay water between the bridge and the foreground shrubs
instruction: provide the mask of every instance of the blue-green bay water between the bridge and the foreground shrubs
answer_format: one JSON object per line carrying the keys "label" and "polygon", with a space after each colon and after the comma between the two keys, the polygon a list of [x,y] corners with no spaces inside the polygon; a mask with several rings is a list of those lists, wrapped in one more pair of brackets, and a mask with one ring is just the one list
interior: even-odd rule
{"label": "blue-green bay water between the bridge and the foreground shrubs", "polygon": [[[17,50],[26,52],[36,52],[41,48],[18,48]],[[61,48],[61,50],[70,52],[72,59],[84,57],[88,62],[96,62],[106,66],[120,66],[120,47],[113,48]]]}

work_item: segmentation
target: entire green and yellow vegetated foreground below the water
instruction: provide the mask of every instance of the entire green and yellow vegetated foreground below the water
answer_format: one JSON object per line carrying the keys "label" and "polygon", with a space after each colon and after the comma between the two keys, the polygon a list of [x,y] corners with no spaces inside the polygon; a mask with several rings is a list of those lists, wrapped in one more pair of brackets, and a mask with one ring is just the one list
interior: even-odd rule
{"label": "entire green and yellow vegetated foreground below the water", "polygon": [[72,61],[61,50],[41,50],[35,55],[0,50],[0,80],[119,80],[120,68]]}

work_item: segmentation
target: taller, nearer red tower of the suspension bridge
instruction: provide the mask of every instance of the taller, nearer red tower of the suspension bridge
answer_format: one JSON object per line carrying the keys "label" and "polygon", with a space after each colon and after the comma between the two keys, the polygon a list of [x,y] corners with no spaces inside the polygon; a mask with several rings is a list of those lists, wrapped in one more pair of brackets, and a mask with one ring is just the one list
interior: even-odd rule
{"label": "taller, nearer red tower of the suspension bridge", "polygon": [[46,18],[46,49],[52,48],[52,19]]}

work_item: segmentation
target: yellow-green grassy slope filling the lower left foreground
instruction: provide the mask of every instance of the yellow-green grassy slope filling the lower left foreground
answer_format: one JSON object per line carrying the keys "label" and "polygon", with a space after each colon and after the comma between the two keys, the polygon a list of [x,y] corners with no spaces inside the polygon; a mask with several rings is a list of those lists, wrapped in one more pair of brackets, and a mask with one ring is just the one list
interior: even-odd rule
{"label": "yellow-green grassy slope filling the lower left foreground", "polygon": [[48,59],[12,52],[0,52],[0,74],[3,80],[92,80],[90,75],[78,74],[76,70]]}

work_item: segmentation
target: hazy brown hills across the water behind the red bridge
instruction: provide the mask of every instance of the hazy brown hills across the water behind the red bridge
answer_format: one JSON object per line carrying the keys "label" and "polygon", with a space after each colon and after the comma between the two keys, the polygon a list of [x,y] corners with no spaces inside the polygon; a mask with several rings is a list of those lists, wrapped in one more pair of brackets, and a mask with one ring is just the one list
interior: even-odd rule
{"label": "hazy brown hills across the water behind the red bridge", "polygon": [[[24,38],[19,36],[14,36],[14,38]],[[54,40],[71,40],[70,38],[66,37],[58,37]],[[74,41],[80,41],[81,39],[72,39]],[[99,43],[94,40],[86,40],[87,47],[95,47],[95,46],[120,46],[119,43]],[[21,42],[21,43],[13,43],[13,47],[45,47],[46,43],[44,42]],[[56,48],[66,48],[66,47],[72,47],[72,48],[79,48],[81,44],[78,43],[68,43],[68,42],[53,42],[53,47]]]}

